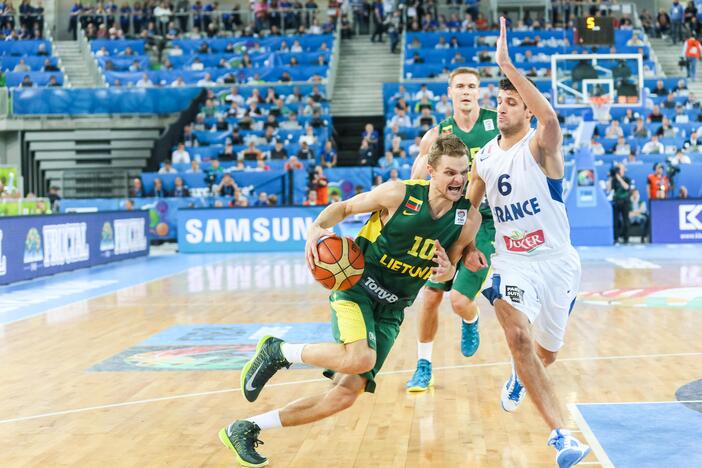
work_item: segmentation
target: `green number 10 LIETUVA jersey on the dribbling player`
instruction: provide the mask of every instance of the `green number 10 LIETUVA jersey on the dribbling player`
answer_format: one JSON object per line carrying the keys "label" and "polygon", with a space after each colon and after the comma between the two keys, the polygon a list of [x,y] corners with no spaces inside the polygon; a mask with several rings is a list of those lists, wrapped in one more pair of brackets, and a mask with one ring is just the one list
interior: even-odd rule
{"label": "green number 10 LIETUVA jersey on the dribbling player", "polygon": [[405,198],[385,224],[371,215],[356,237],[365,257],[359,285],[388,303],[411,303],[431,276],[435,241],[448,250],[468,221],[470,201],[461,198],[441,218],[429,209],[429,181],[410,180]]}

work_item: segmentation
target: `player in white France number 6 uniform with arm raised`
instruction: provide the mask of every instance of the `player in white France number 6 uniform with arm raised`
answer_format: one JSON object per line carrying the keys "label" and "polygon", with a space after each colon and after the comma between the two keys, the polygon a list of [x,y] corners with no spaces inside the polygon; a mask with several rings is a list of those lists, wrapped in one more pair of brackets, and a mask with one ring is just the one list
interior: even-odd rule
{"label": "player in white France number 6 uniform with arm raised", "polygon": [[[563,346],[568,315],[580,283],[580,258],[570,243],[563,203],[563,137],[556,112],[510,60],[505,19],[495,61],[506,79],[497,97],[500,135],[473,160],[469,194],[479,206],[485,193],[495,220],[492,286],[483,295],[495,307],[514,363],[502,390],[502,407],[514,411],[529,391],[552,429],[548,444],[559,467],[590,452],[563,427],[565,421],[545,367]],[[536,129],[530,127],[536,117]],[[479,251],[466,266],[483,266]]]}

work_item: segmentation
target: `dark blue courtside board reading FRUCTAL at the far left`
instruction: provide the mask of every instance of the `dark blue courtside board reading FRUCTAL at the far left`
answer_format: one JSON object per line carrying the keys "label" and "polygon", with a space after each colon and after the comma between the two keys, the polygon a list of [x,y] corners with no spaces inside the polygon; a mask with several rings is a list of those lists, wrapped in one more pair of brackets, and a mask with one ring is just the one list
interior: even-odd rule
{"label": "dark blue courtside board reading FRUCTAL at the far left", "polygon": [[0,218],[0,284],[148,253],[146,212]]}

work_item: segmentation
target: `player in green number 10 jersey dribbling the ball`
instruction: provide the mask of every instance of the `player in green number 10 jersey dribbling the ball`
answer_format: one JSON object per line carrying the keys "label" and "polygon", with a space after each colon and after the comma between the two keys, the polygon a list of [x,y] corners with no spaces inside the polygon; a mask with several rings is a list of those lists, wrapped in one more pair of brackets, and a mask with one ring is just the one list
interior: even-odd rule
{"label": "player in green number 10 jersey dribbling the ball", "polygon": [[464,196],[466,147],[454,135],[441,136],[427,152],[427,164],[429,181],[388,181],[332,203],[310,226],[305,254],[312,268],[317,243],[330,234],[328,229],[354,214],[371,212],[356,238],[365,270],[355,286],[330,296],[336,343],[291,344],[271,336],[259,341],[241,373],[241,390],[248,401],[256,400],[273,374],[295,363],[326,368],[324,375],[333,383],[322,394],[223,428],[220,440],[243,466],[268,463],[256,451],[261,430],[319,421],[349,408],[364,390],[372,393],[400,331],[404,309],[430,277],[453,278],[455,263],[480,225],[480,214]]}

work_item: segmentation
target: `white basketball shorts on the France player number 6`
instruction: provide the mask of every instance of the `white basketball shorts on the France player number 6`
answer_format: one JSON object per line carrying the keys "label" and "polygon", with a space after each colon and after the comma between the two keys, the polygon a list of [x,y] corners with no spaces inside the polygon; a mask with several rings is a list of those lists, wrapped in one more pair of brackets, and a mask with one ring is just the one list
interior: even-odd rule
{"label": "white basketball shorts on the France player number 6", "polygon": [[510,255],[492,257],[492,286],[486,297],[501,298],[523,312],[534,327],[534,338],[556,352],[563,346],[568,316],[580,287],[580,256],[569,247],[547,259]]}

